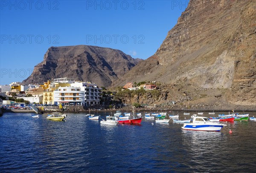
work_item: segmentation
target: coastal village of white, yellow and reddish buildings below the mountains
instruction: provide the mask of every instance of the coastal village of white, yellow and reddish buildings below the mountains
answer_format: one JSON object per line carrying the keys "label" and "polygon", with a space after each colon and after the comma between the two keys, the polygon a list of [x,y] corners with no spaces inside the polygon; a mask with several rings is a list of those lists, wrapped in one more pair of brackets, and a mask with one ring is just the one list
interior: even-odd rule
{"label": "coastal village of white, yellow and reddish buildings below the mountains", "polygon": [[[135,86],[128,82],[122,90],[154,90],[157,85],[141,84]],[[71,78],[48,80],[44,84],[23,85],[12,82],[10,85],[0,86],[0,104],[4,106],[24,105],[67,105],[67,106],[95,106],[104,105],[102,88],[93,82],[81,82]],[[112,95],[112,94],[111,94]]]}

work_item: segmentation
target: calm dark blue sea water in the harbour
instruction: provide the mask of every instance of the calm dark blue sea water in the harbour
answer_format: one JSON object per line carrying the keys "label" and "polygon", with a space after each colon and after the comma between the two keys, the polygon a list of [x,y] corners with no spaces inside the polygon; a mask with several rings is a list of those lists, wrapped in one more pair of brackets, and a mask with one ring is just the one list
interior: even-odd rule
{"label": "calm dark blue sea water in the harbour", "polygon": [[[230,134],[227,128],[189,131],[181,130],[180,124],[150,120],[108,126],[85,114],[70,113],[66,122],[55,122],[47,115],[35,119],[32,113],[4,113],[0,172],[256,171],[256,122],[227,122]],[[108,115],[99,114],[103,119]],[[180,119],[185,117],[190,116]]]}

